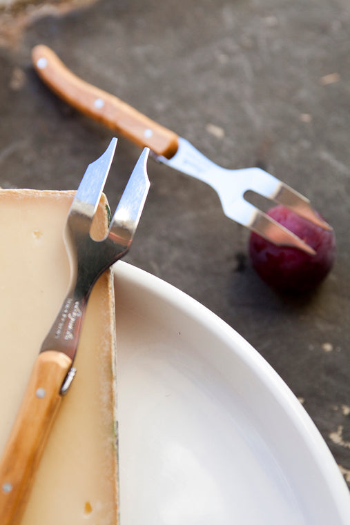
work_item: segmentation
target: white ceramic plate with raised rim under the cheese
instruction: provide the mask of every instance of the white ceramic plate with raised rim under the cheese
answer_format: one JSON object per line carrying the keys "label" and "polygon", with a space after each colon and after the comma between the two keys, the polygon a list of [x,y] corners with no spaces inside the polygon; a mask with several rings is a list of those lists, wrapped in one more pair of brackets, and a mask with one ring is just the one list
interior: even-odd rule
{"label": "white ceramic plate with raised rim under the cheese", "polygon": [[124,262],[115,292],[121,525],[349,525],[320,433],[240,335]]}

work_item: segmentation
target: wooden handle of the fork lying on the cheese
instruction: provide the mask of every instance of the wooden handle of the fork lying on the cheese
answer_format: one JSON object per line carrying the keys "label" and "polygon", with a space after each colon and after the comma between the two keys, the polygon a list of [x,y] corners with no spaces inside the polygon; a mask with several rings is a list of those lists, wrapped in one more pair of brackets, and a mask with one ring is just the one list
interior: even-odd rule
{"label": "wooden handle of the fork lying on the cheese", "polygon": [[17,525],[57,409],[72,360],[55,350],[40,353],[0,462],[0,524]]}

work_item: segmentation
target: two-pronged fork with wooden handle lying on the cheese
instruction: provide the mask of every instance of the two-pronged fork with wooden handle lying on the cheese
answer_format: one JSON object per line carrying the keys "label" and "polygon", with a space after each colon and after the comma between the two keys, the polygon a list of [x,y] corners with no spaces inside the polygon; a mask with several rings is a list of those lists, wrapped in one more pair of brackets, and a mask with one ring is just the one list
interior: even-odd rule
{"label": "two-pronged fork with wooden handle lying on the cheese", "polygon": [[70,286],[59,314],[43,341],[23,402],[0,462],[0,523],[17,525],[62,396],[75,376],[72,362],[90,292],[101,273],[128,251],[144,207],[149,181],[146,148],[139,157],[106,237],[94,240],[90,228],[117,140],[88,166],[66,224]]}

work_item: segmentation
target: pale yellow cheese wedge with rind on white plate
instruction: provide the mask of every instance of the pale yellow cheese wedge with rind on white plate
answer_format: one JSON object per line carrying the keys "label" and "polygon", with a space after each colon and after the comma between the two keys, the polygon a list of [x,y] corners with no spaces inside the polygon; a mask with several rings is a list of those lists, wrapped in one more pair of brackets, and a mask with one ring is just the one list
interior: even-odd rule
{"label": "pale yellow cheese wedge with rind on white plate", "polygon": [[[72,197],[73,192],[0,190],[0,453],[41,342],[66,295],[70,270],[62,232]],[[97,213],[94,226],[104,230],[105,199]],[[115,313],[109,270],[90,296],[75,368],[21,525],[117,525]]]}

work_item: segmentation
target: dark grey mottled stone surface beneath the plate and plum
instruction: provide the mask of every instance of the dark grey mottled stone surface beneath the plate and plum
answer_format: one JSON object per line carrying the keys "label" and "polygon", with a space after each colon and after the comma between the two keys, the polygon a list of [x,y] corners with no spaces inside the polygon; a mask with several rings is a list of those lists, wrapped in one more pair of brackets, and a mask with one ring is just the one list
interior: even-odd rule
{"label": "dark grey mottled stone surface beneath the plate and plum", "polygon": [[[0,185],[76,188],[111,136],[41,84],[30,49],[46,43],[218,164],[264,165],[307,195],[338,239],[331,275],[308,297],[262,283],[249,232],[224,217],[213,190],[153,161],[127,260],[245,337],[300,398],[350,483],[349,19],[348,0],[100,0],[2,12]],[[112,206],[139,151],[119,140]]]}

